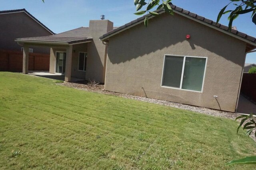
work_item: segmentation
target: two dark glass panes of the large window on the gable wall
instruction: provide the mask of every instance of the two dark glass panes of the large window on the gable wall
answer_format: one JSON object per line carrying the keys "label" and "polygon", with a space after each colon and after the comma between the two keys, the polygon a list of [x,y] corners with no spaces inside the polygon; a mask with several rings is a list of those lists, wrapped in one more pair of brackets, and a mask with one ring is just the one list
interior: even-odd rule
{"label": "two dark glass panes of the large window on the gable wall", "polygon": [[162,86],[201,92],[205,67],[203,57],[166,56]]}

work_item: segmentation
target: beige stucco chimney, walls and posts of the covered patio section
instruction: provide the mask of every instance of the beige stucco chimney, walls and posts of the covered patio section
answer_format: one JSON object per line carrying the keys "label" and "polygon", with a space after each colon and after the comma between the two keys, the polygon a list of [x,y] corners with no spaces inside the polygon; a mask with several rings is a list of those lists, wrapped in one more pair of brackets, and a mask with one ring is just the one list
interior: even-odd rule
{"label": "beige stucco chimney, walls and posts of the covered patio section", "polygon": [[[71,77],[84,80],[95,80],[104,83],[106,56],[108,46],[100,41],[99,37],[113,30],[113,23],[109,20],[90,20],[88,39],[73,43],[28,41],[20,42],[29,47],[50,47],[50,73],[56,73],[56,52],[66,52],[65,81],[71,81]],[[91,40],[92,39],[92,40]],[[22,40],[21,40],[22,41]],[[27,50],[27,49],[26,49]],[[79,52],[87,53],[86,71],[78,70]],[[24,61],[27,61],[24,54]],[[27,74],[27,66],[23,64],[23,73]]]}

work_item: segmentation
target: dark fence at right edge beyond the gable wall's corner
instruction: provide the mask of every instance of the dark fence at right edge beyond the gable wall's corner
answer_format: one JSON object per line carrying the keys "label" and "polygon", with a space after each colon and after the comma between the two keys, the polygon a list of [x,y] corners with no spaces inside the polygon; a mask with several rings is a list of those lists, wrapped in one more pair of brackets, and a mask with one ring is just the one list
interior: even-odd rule
{"label": "dark fence at right edge beyond the gable wall's corner", "polygon": [[241,92],[256,102],[256,74],[243,74]]}

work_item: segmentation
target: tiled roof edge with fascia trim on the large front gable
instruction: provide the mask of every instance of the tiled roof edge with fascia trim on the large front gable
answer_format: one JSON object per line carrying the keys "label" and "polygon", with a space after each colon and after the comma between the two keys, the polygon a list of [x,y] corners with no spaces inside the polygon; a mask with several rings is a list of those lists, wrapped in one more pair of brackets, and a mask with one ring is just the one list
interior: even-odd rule
{"label": "tiled roof edge with fascia trim on the large front gable", "polygon": [[[170,4],[171,5],[171,4]],[[200,22],[200,23],[203,23],[204,25],[207,25],[209,27],[212,27],[212,28],[215,28],[219,31],[222,31],[226,34],[229,34],[229,35],[232,35],[233,37],[236,37],[242,41],[246,41],[246,43],[249,43],[250,45],[253,45],[253,46],[256,46],[256,38],[254,37],[251,37],[249,35],[246,35],[245,33],[242,33],[242,32],[239,32],[235,29],[232,29],[231,32],[228,31],[228,27],[227,26],[224,26],[224,25],[221,25],[221,24],[216,24],[216,22],[212,21],[212,20],[208,20],[202,16],[199,16],[197,14],[194,14],[190,11],[187,11],[187,10],[183,10],[182,8],[179,8],[177,6],[174,6],[174,5],[171,5],[173,11],[177,14],[180,14],[182,16],[185,16],[187,18],[190,18],[194,21],[197,21],[197,22]],[[160,10],[156,10],[156,12],[158,12],[159,14],[162,14],[164,13],[164,9],[160,9]],[[142,16],[134,21],[131,21],[129,23],[126,23],[125,25],[121,26],[121,27],[118,27],[117,29],[114,29],[112,31],[109,31],[108,33],[102,35],[100,37],[100,40],[104,41],[106,39],[108,39],[109,37],[112,37],[113,35],[116,35],[117,33],[120,33],[130,27],[133,27],[135,25],[138,25],[142,22],[144,22],[144,18],[148,16],[149,18],[153,18],[154,16],[150,16],[150,14],[147,14],[145,16]]]}

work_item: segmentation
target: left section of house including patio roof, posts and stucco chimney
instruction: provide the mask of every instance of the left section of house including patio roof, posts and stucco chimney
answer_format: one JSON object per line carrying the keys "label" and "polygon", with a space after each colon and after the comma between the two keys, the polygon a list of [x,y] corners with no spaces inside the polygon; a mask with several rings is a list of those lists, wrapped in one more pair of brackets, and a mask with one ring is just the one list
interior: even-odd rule
{"label": "left section of house including patio roof, posts and stucco chimney", "polygon": [[24,47],[23,73],[28,73],[28,51],[32,47],[50,48],[50,73],[104,82],[107,46],[99,37],[113,30],[109,20],[90,20],[89,27],[80,27],[64,33],[43,37],[19,38]]}

